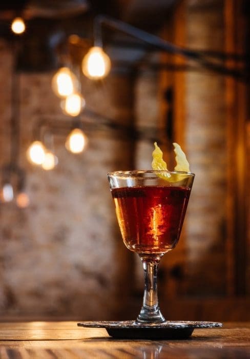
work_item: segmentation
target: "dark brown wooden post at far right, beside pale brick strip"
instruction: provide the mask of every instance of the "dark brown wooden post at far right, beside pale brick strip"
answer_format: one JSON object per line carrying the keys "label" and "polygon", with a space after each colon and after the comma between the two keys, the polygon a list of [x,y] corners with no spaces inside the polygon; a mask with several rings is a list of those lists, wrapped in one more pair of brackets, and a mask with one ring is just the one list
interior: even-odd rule
{"label": "dark brown wooden post at far right, beside pale brick strip", "polygon": [[[239,55],[245,52],[242,5],[242,0],[225,1],[225,51]],[[227,292],[238,295],[246,293],[246,105],[246,85],[226,78]]]}

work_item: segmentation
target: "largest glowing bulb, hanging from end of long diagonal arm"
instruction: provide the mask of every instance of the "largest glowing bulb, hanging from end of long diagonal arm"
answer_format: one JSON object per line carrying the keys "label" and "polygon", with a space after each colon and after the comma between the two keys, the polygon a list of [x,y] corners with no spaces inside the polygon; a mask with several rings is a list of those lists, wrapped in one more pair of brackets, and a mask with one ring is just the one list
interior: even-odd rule
{"label": "largest glowing bulb, hanging from end of long diagonal arm", "polygon": [[82,61],[82,72],[91,79],[106,77],[110,69],[110,58],[99,46],[92,47]]}

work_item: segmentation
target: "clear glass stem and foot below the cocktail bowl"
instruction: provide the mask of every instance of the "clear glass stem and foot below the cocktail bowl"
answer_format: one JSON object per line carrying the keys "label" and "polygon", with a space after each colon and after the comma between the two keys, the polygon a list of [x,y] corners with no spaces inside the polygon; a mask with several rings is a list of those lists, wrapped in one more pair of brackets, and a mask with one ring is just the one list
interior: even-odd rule
{"label": "clear glass stem and foot below the cocktail bowl", "polygon": [[160,257],[141,256],[144,269],[144,296],[137,322],[159,323],[165,319],[160,312],[157,295],[157,270]]}

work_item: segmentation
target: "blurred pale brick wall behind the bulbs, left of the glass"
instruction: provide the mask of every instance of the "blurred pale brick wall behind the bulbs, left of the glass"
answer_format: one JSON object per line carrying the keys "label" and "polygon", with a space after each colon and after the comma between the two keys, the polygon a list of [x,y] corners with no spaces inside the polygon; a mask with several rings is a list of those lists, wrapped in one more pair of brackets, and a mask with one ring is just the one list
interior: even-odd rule
{"label": "blurred pale brick wall behind the bulbs, left of the glass", "polygon": [[[10,146],[7,43],[1,42],[0,53],[4,164]],[[0,311],[109,319],[115,315],[123,284],[118,273],[124,271],[126,255],[120,254],[107,173],[130,167],[131,148],[115,136],[91,132],[86,152],[73,155],[65,148],[66,136],[56,135],[58,166],[46,172],[29,164],[25,153],[34,124],[43,116],[61,116],[51,78],[52,73],[20,74],[20,165],[26,170],[30,206],[0,204]],[[129,124],[133,118],[129,78],[111,76],[99,87],[85,80],[82,87],[90,108]]]}

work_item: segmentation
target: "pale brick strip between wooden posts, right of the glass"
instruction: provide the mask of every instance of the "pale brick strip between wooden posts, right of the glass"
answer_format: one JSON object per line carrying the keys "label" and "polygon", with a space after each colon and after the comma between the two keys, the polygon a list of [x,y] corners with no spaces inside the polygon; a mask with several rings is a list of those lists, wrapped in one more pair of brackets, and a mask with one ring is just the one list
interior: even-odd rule
{"label": "pale brick strip between wooden posts, right of the glass", "polygon": [[[209,2],[207,2],[209,3]],[[188,2],[187,46],[223,49],[223,7]],[[213,3],[213,4],[212,4]],[[206,6],[207,5],[207,6]],[[221,5],[220,7],[218,5]],[[196,173],[187,220],[190,294],[225,293],[226,118],[224,78],[186,74],[186,148]]]}

